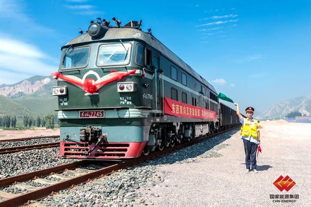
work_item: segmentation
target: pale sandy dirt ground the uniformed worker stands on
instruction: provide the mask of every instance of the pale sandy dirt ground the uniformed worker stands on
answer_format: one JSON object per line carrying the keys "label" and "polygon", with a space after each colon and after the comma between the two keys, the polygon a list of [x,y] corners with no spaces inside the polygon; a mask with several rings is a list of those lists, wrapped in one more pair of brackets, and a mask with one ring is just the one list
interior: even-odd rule
{"label": "pale sandy dirt ground the uniformed worker stands on", "polygon": [[[311,124],[280,120],[261,125],[258,173],[244,172],[243,141],[236,130],[222,142],[228,145],[218,151],[221,157],[159,167],[164,182],[142,190],[145,199],[154,206],[310,206]],[[296,185],[279,191],[273,183],[280,175],[289,175]],[[299,197],[275,199],[281,195]]]}

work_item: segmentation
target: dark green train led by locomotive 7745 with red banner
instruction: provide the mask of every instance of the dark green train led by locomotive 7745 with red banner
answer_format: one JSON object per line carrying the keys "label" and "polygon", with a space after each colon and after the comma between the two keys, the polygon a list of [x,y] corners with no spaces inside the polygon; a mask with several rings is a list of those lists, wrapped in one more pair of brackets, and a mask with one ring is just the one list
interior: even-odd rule
{"label": "dark green train led by locomotive 7745 with red banner", "polygon": [[141,20],[113,21],[91,21],[61,48],[52,74],[60,156],[135,158],[237,125],[213,85],[143,32]]}

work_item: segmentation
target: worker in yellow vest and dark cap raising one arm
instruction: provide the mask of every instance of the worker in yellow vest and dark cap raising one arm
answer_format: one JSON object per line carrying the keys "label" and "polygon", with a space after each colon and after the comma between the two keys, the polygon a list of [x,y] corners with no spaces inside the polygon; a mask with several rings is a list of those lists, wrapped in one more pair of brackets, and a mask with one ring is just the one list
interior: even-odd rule
{"label": "worker in yellow vest and dark cap raising one arm", "polygon": [[244,118],[240,114],[239,104],[234,103],[237,106],[237,114],[239,120],[242,124],[241,127],[241,139],[243,139],[244,150],[245,150],[245,164],[246,164],[246,173],[249,173],[250,170],[257,173],[257,163],[256,163],[256,152],[257,147],[260,145],[260,130],[259,122],[253,119],[254,108],[247,107],[245,109],[247,118]]}

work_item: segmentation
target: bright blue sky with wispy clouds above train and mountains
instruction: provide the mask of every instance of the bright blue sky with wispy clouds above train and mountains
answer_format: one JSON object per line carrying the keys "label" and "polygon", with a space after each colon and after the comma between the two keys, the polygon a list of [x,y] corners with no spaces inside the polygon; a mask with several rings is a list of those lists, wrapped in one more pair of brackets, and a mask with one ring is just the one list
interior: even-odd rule
{"label": "bright blue sky with wispy clouds above train and mountains", "polygon": [[0,0],[0,14],[0,85],[57,71],[79,27],[116,17],[142,19],[242,110],[311,95],[311,1]]}

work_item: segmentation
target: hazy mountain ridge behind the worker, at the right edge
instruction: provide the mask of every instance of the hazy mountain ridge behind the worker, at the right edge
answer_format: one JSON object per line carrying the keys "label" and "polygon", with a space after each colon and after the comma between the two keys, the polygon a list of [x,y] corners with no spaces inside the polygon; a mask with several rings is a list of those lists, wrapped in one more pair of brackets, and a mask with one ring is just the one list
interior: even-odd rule
{"label": "hazy mountain ridge behind the worker, at the right edge", "polygon": [[311,95],[292,98],[273,105],[269,110],[256,116],[256,119],[284,118],[292,111],[299,111],[302,115],[311,115]]}

